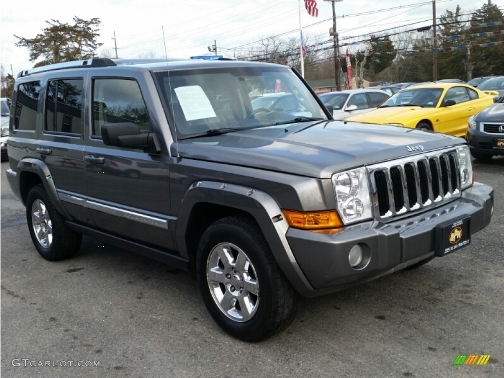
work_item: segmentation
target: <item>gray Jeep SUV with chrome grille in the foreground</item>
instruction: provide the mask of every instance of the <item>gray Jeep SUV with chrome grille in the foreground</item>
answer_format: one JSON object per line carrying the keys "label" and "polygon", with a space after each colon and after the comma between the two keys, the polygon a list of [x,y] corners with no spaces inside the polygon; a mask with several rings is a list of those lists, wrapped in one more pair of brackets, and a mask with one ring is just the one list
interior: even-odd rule
{"label": "gray Jeep SUV with chrome grille in the foreground", "polygon": [[[251,106],[292,95],[303,114]],[[95,58],[18,75],[7,172],[49,261],[82,235],[194,270],[229,334],[286,328],[299,295],[467,245],[493,190],[463,139],[336,121],[292,69]]]}

